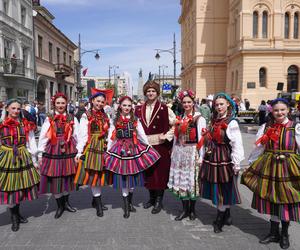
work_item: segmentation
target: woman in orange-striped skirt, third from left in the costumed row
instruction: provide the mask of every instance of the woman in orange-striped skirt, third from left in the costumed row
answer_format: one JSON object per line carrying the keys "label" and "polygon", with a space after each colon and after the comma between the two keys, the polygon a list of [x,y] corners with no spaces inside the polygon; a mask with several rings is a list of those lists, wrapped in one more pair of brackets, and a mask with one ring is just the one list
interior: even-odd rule
{"label": "woman in orange-striped skirt, third from left in the costumed row", "polygon": [[92,207],[96,208],[96,215],[103,216],[101,187],[112,184],[112,173],[104,168],[104,153],[107,150],[107,136],[110,126],[109,118],[104,112],[106,95],[96,89],[90,97],[91,108],[81,116],[78,153],[76,161],[78,170],[75,183],[89,185],[92,189]]}

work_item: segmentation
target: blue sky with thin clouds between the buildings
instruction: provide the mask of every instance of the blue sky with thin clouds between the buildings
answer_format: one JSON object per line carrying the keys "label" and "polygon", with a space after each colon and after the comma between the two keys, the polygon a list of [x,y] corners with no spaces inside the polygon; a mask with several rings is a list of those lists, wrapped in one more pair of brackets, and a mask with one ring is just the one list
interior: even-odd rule
{"label": "blue sky with thin clouds between the buildings", "polygon": [[[109,65],[116,73],[129,72],[137,88],[138,72],[144,80],[149,72],[158,73],[166,65],[165,74],[173,74],[173,56],[161,53],[155,59],[155,49],[172,49],[176,35],[176,59],[180,56],[180,0],[41,0],[51,14],[54,24],[76,45],[81,35],[81,48],[99,49],[97,61],[92,53],[82,55],[87,76],[108,77]],[[180,64],[177,64],[180,72]]]}

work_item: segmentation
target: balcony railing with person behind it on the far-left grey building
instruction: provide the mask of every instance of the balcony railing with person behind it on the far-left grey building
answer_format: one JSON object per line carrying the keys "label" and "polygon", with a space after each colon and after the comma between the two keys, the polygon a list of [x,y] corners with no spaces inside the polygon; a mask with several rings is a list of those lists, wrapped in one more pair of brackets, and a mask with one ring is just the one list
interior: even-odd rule
{"label": "balcony railing with person behind it on the far-left grey building", "polygon": [[15,58],[0,58],[0,70],[4,74],[25,76],[24,60]]}

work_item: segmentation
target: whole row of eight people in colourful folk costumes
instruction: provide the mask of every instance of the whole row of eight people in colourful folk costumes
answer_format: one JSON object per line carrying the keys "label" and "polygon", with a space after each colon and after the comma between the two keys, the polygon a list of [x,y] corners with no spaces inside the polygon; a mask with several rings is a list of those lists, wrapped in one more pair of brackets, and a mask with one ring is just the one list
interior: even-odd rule
{"label": "whole row of eight people in colourful folk costumes", "polygon": [[[230,207],[241,203],[238,173],[244,159],[234,102],[225,93],[216,94],[206,124],[195,112],[192,90],[178,95],[184,108],[180,117],[158,100],[158,83],[149,80],[143,90],[145,104],[133,110],[133,100],[121,97],[113,119],[104,111],[105,93],[93,92],[80,122],[67,113],[67,97],[57,93],[38,146],[35,125],[22,117],[21,103],[6,103],[0,123],[0,204],[9,207],[13,231],[28,222],[20,213],[21,201],[52,193],[59,218],[64,211],[76,212],[69,195],[81,185],[91,187],[99,217],[108,209],[102,186],[121,190],[124,218],[136,212],[134,188],[144,186],[149,190],[144,208],[152,207],[152,214],[161,211],[169,189],[182,201],[176,221],[195,220],[200,197],[217,207],[215,233],[232,224]],[[260,127],[255,145],[241,183],[253,192],[252,208],[271,216],[270,233],[260,243],[280,242],[286,249],[289,222],[300,221],[300,125],[289,119],[285,99],[272,102],[272,116]]]}

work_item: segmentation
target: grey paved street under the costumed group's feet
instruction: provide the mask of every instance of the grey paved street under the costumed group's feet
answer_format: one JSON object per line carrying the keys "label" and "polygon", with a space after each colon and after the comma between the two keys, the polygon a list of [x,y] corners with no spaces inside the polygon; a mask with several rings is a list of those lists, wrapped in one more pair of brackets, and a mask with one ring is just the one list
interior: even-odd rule
{"label": "grey paved street under the costumed group's feet", "polygon": [[[248,156],[254,135],[243,133],[243,138]],[[6,208],[0,208],[0,249],[280,249],[278,244],[258,243],[269,230],[268,218],[250,208],[251,193],[246,188],[241,186],[240,191],[243,204],[232,209],[234,225],[225,226],[221,234],[213,233],[211,223],[216,209],[207,201],[197,202],[197,220],[176,222],[174,218],[181,203],[168,192],[165,210],[152,215],[150,210],[142,208],[147,192],[137,189],[134,193],[137,213],[127,220],[123,219],[121,195],[111,188],[103,191],[109,207],[103,218],[96,217],[90,207],[91,192],[87,188],[71,195],[71,202],[79,211],[65,212],[59,220],[53,218],[55,200],[42,196],[22,204],[29,223],[21,225],[17,233],[10,230]],[[299,234],[300,225],[292,223],[290,249],[299,249]]]}

